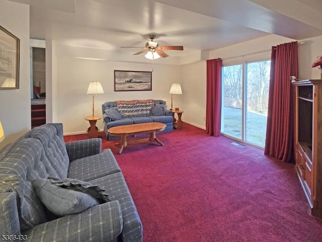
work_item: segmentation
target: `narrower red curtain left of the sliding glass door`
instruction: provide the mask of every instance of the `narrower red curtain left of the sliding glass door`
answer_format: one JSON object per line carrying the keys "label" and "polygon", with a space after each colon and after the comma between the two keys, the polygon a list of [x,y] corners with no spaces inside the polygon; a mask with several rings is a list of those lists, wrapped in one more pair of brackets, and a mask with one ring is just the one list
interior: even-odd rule
{"label": "narrower red curtain left of the sliding glass door", "polygon": [[207,60],[206,132],[220,136],[222,60]]}

